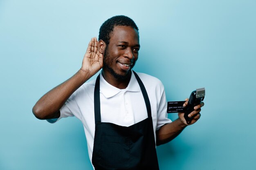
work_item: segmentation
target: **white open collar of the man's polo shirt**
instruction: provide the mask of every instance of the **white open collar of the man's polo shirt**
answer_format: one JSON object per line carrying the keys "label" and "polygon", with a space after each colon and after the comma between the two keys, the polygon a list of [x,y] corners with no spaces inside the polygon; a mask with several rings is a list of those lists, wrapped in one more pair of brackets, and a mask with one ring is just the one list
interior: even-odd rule
{"label": "white open collar of the man's polo shirt", "polygon": [[137,79],[134,75],[134,73],[132,72],[131,75],[131,79],[130,82],[128,84],[128,86],[125,89],[119,89],[116,88],[115,86],[112,86],[111,84],[109,84],[102,76],[102,73],[100,73],[100,92],[106,97],[113,97],[115,95],[117,95],[118,93],[120,93],[121,91],[126,92],[126,91],[131,91],[131,92],[140,92],[140,87],[139,84],[137,82]]}

